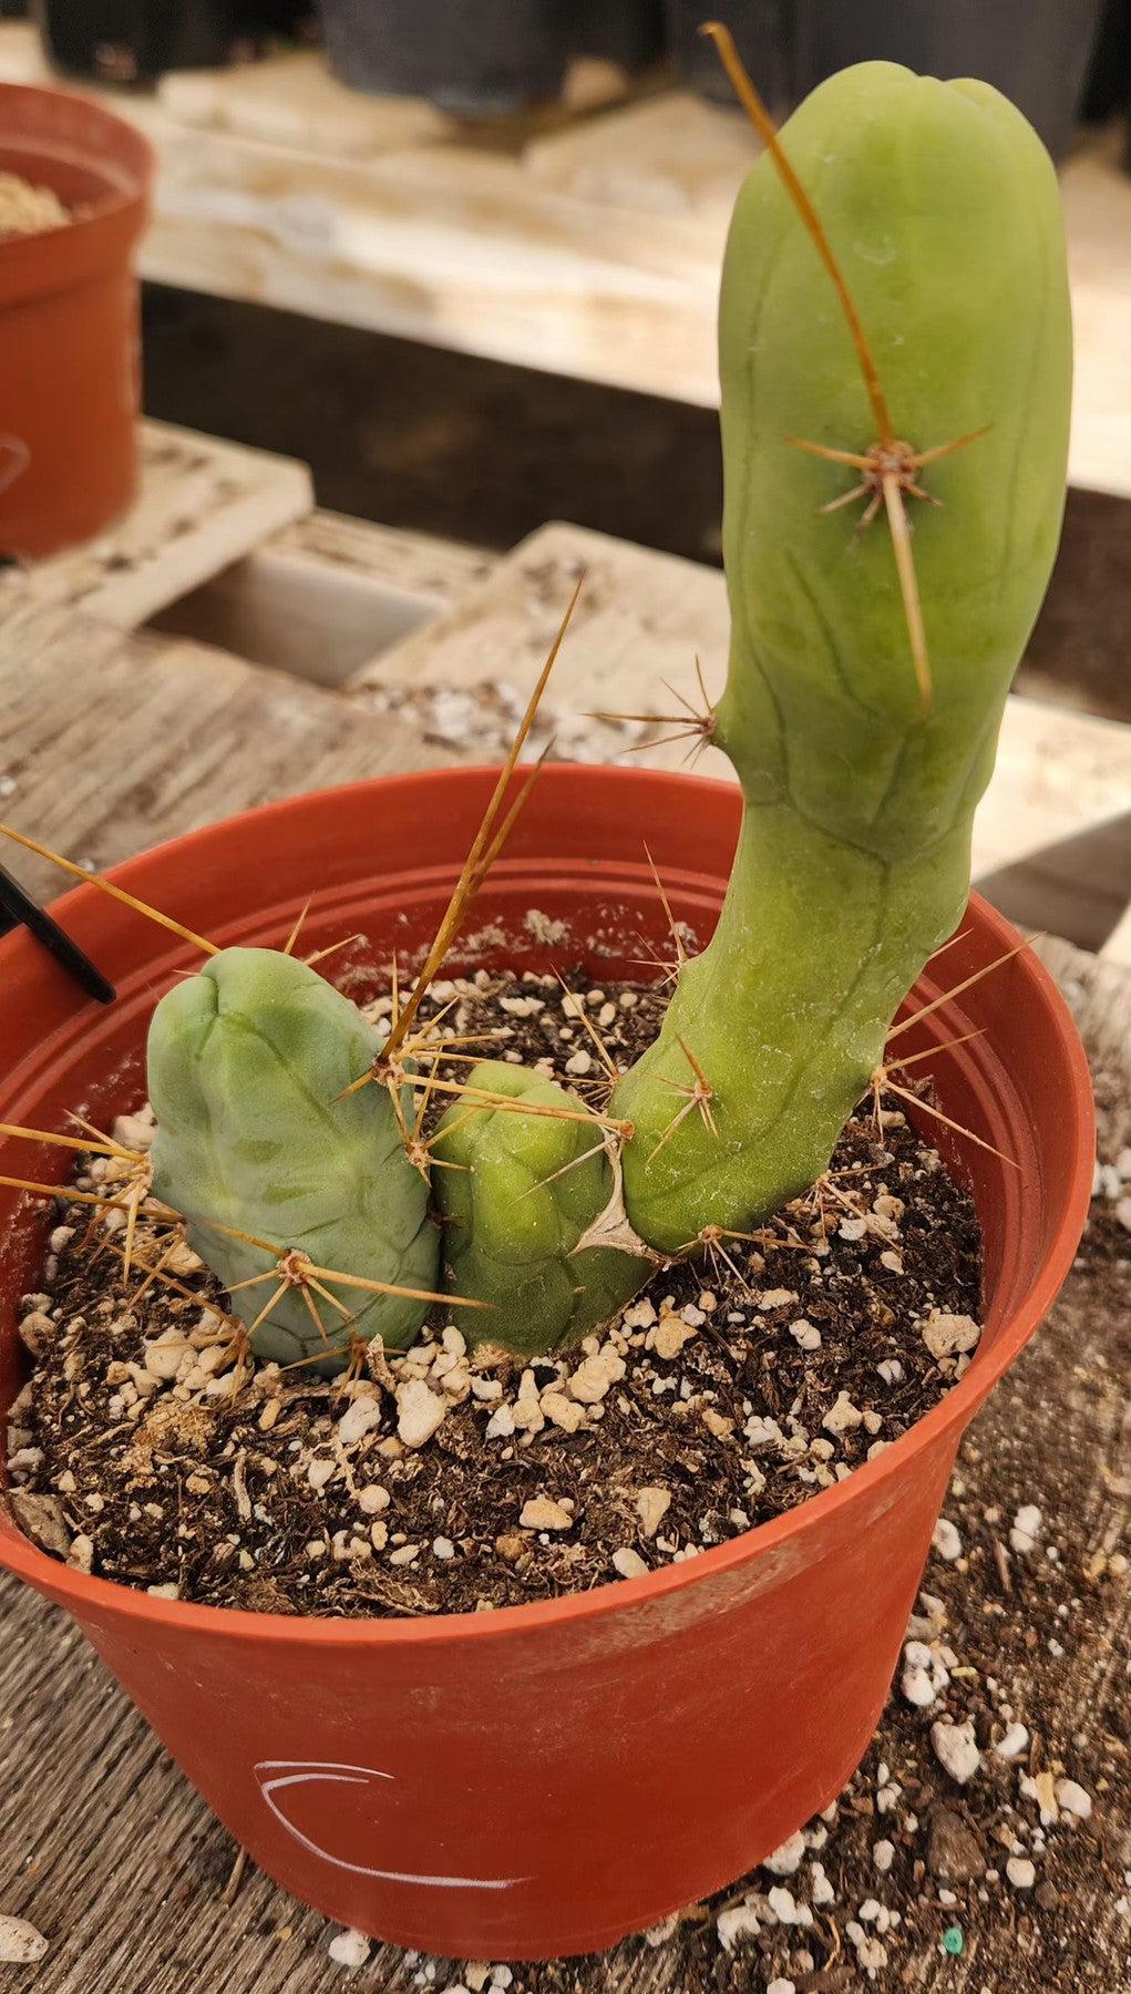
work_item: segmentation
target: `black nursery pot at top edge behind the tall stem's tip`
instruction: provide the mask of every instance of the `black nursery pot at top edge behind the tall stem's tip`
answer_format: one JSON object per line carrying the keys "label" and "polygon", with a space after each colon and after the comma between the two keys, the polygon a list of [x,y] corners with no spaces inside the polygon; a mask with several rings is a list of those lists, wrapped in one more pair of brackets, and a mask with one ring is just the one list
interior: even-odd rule
{"label": "black nursery pot at top edge behind the tall stem's tip", "polygon": [[[698,34],[698,0],[666,0],[672,52],[696,90],[732,102]],[[981,76],[1025,112],[1053,158],[1071,144],[1103,0],[720,0],[776,116],[834,70],[884,58],[924,76]]]}

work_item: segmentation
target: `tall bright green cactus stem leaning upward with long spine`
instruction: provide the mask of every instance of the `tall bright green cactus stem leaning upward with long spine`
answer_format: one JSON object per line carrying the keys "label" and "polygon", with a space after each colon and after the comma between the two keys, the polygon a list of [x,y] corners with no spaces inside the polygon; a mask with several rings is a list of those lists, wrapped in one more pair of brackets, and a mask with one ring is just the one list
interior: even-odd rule
{"label": "tall bright green cactus stem leaning upward with long spine", "polygon": [[[959,921],[973,808],[1063,510],[1063,221],[1019,112],[985,84],[870,62],[822,84],[782,150],[908,441],[876,435],[842,299],[762,158],[738,195],[720,303],[732,648],[714,738],[742,782],[744,826],[716,935],[612,1101],[636,1127],[628,1216],[662,1250],[748,1226],[820,1174],[892,1013]],[[888,498],[892,465],[914,508],[930,704],[886,516],[858,524],[866,500],[876,512]],[[710,1117],[674,1125],[688,1053]]]}

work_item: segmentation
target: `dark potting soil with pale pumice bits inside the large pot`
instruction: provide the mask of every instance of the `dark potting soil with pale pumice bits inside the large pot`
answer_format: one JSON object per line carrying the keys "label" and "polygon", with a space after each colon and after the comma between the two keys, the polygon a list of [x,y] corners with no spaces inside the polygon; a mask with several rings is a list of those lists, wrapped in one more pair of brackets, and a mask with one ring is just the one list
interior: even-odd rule
{"label": "dark potting soil with pale pumice bits inside the large pot", "polygon": [[[570,983],[481,971],[433,1003],[455,995],[459,1033],[503,1035],[495,1053],[596,1105],[582,1017],[626,1067],[664,995]],[[118,1131],[144,1143],[146,1121]],[[80,1184],[112,1192],[120,1168],[92,1159]],[[485,1611],[684,1561],[886,1448],[979,1336],[973,1204],[896,1101],[758,1238],[662,1268],[606,1332],[529,1366],[469,1354],[459,1312],[437,1312],[353,1378],[251,1372],[184,1242],[170,1258],[142,1220],[130,1280],[120,1244],[74,1206],[52,1232],[12,1505],[102,1577],[259,1611]]]}

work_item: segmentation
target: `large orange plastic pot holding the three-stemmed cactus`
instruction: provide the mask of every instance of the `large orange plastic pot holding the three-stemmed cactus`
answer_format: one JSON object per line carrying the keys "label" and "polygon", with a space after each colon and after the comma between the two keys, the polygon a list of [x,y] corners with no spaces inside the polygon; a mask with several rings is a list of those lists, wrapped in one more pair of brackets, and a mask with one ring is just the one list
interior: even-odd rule
{"label": "large orange plastic pot holding the three-stemmed cactus", "polygon": [[[311,945],[365,931],[377,959],[397,947],[405,961],[431,939],[491,780],[445,770],[297,798],[114,877],[215,941],[275,945],[313,889]],[[706,937],[738,810],[734,788],[686,776],[545,770],[479,905],[475,925],[507,937],[489,959],[638,975],[640,939],[666,939],[644,839],[676,915]],[[553,947],[531,907],[563,923]],[[193,961],[92,887],[56,911],[120,1001],[82,1003],[26,935],[0,941],[0,1117],[48,1129],[68,1109],[102,1121],[136,1105],[152,1003]],[[959,983],[1013,941],[973,901],[940,975]],[[942,1099],[1019,1164],[953,1151],[985,1230],[977,1360],[910,1434],[792,1515],[644,1579],[421,1621],[150,1599],[44,1557],[8,1521],[0,1555],[78,1619],[255,1862],[331,1918],[473,1958],[580,1952],[656,1922],[740,1876],[850,1777],[961,1430],[1071,1264],[1093,1168],[1079,1039],[1029,953],[904,1043],[975,1025],[983,1037],[938,1055]],[[6,1143],[0,1170],[56,1180],[60,1159]],[[0,1192],[0,1404],[18,1388],[16,1300],[40,1278],[48,1222]]]}

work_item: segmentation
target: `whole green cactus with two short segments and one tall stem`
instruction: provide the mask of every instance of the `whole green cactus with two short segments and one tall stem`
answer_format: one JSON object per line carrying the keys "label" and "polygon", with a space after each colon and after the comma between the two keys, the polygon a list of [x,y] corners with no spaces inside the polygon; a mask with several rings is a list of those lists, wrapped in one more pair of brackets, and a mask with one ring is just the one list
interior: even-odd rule
{"label": "whole green cactus with two short segments and one tall stem", "polygon": [[[483,1067],[437,1139],[447,1278],[481,1304],[463,1328],[523,1354],[820,1176],[965,907],[1067,463],[1063,221],[1019,112],[882,62],[822,84],[738,195],[720,371],[732,642],[710,734],[744,824],[716,933],[602,1121]],[[437,1284],[405,1073],[343,1095],[375,1063],[353,1005],[271,951],[162,1001],[156,1186],[225,1282],[269,1266],[243,1234]],[[574,1119],[547,1117],[561,1099]],[[317,1298],[241,1294],[263,1354],[317,1358]],[[365,1300],[353,1332],[403,1344],[423,1306]]]}

